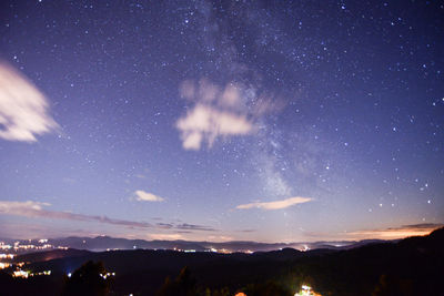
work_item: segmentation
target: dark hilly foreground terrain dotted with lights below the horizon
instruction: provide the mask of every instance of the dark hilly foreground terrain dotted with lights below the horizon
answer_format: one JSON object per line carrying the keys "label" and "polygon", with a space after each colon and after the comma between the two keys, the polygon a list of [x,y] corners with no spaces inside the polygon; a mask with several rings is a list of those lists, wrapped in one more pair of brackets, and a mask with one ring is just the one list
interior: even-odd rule
{"label": "dark hilly foreground terrain dotted with lights below the horizon", "polygon": [[444,295],[444,228],[345,251],[68,249],[17,262],[27,262],[23,271],[51,275],[16,278],[16,267],[7,268],[0,272],[0,295],[294,295],[302,284],[321,295]]}

